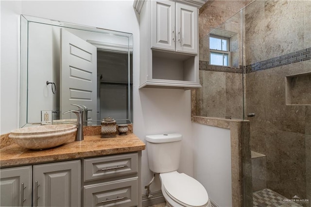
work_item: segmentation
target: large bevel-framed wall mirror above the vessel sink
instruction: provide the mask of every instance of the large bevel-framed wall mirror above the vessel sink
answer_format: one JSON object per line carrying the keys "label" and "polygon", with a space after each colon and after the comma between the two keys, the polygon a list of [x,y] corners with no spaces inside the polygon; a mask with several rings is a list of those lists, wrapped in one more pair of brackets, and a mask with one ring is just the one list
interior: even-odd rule
{"label": "large bevel-framed wall mirror above the vessel sink", "polygon": [[[21,15],[20,127],[74,120],[87,108],[88,125],[107,116],[131,123],[133,35]],[[57,120],[57,121],[56,121]]]}

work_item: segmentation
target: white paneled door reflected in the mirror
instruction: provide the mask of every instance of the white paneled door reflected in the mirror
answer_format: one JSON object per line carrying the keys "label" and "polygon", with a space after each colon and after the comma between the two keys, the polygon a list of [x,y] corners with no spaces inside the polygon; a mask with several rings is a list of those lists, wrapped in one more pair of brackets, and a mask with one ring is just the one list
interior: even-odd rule
{"label": "white paneled door reflected in the mirror", "polygon": [[90,109],[88,120],[97,120],[97,48],[65,29],[60,29],[60,118],[75,118],[70,104]]}

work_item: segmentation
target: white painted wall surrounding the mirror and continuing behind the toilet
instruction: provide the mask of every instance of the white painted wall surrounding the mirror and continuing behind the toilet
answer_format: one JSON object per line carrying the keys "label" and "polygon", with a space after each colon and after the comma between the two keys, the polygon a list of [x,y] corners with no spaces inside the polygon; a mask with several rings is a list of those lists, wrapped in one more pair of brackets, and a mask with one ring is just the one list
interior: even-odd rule
{"label": "white painted wall surrounding the mirror and continuing behind the toilet", "polygon": [[[190,91],[176,89],[141,89],[139,85],[139,23],[133,0],[98,1],[0,1],[1,5],[1,114],[0,134],[18,128],[19,110],[19,16],[51,18],[71,23],[132,33],[134,133],[144,141],[150,134],[183,134],[180,172],[192,175],[192,136]],[[142,186],[152,173],[147,154],[142,157]],[[142,188],[143,189],[143,188]],[[151,186],[160,190],[159,182]]]}

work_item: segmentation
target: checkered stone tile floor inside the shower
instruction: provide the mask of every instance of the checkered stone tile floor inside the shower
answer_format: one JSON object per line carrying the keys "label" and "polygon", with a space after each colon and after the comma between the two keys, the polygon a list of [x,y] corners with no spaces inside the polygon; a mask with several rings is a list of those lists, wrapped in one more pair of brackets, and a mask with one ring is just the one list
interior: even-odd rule
{"label": "checkered stone tile floor inside the shower", "polygon": [[284,196],[270,189],[253,192],[253,207],[302,207],[296,203],[284,203]]}

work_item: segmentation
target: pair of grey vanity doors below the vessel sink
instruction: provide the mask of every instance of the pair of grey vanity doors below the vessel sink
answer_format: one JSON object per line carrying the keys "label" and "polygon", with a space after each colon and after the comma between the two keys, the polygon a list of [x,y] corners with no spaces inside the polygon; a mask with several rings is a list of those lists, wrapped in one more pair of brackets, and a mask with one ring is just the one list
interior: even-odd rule
{"label": "pair of grey vanity doors below the vessel sink", "polygon": [[1,206],[80,206],[80,160],[7,168],[0,172]]}

